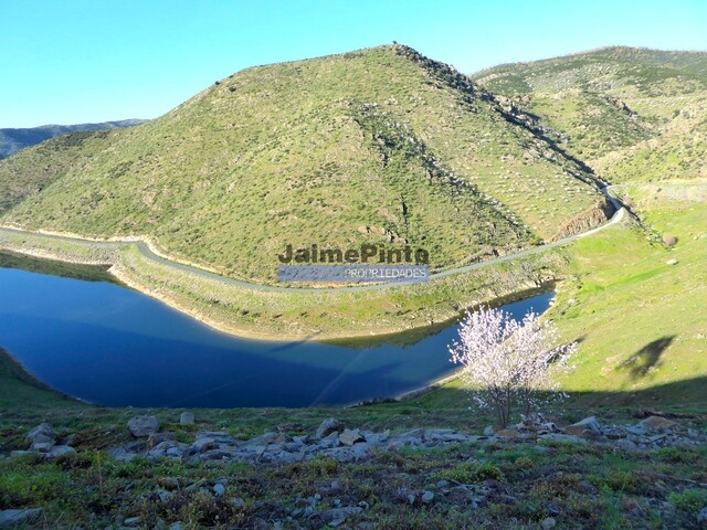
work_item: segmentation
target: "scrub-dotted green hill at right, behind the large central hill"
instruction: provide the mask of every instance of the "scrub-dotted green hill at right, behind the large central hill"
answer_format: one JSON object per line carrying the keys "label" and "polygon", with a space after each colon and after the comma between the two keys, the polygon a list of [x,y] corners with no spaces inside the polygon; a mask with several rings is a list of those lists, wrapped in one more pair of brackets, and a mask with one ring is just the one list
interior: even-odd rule
{"label": "scrub-dotted green hill at right, behind the large central hill", "polygon": [[707,53],[606,47],[473,78],[611,182],[707,176]]}

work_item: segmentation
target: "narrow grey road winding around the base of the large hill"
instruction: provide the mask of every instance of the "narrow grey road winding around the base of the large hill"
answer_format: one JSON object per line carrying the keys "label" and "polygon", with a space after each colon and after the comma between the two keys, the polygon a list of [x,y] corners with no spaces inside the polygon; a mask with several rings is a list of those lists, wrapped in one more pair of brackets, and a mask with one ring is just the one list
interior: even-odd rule
{"label": "narrow grey road winding around the base of the large hill", "polygon": [[[611,220],[609,220],[609,222],[602,224],[601,226],[598,226],[595,229],[589,230],[587,232],[582,232],[580,234],[574,234],[571,235],[569,237],[563,237],[561,240],[558,241],[553,241],[551,243],[546,243],[545,245],[539,245],[539,246],[534,246],[532,248],[527,248],[525,251],[520,251],[514,254],[507,254],[505,256],[500,256],[500,257],[496,257],[494,259],[488,259],[488,261],[484,261],[484,262],[478,262],[478,263],[473,263],[471,265],[465,265],[462,267],[456,267],[456,268],[451,268],[449,271],[443,271],[441,273],[434,273],[430,275],[430,280],[436,279],[436,278],[443,278],[445,276],[452,276],[454,274],[461,274],[461,273],[467,273],[469,271],[476,271],[478,268],[484,268],[484,267],[488,267],[490,265],[496,265],[499,263],[504,263],[504,262],[509,262],[511,259],[517,259],[519,257],[525,257],[525,256],[530,256],[532,254],[538,254],[540,252],[547,251],[548,248],[553,248],[557,246],[562,246],[562,245],[567,245],[569,243],[572,243],[573,241],[577,241],[581,237],[585,237],[588,235],[591,234],[595,234],[597,232],[600,232],[613,224],[620,223],[625,214],[625,208],[611,195],[610,192],[610,188],[611,187],[605,187],[603,188],[601,191],[604,193],[604,195],[606,195],[606,198],[609,199],[609,201],[612,203],[612,205],[615,209],[614,214],[612,215]],[[222,284],[228,284],[228,285],[233,285],[236,287],[242,287],[242,288],[246,288],[246,289],[252,289],[252,290],[264,290],[264,292],[285,292],[285,293],[341,293],[341,292],[358,292],[358,290],[374,290],[374,289],[390,289],[390,288],[395,288],[395,287],[401,287],[403,285],[410,285],[409,283],[404,283],[404,282],[389,282],[389,283],[383,283],[383,284],[370,284],[370,285],[357,285],[357,286],[347,286],[347,287],[321,287],[321,288],[315,288],[315,287],[282,287],[282,286],[276,286],[276,285],[263,285],[263,284],[252,284],[249,282],[243,282],[241,279],[235,279],[235,278],[229,278],[225,276],[221,276],[219,274],[212,273],[210,271],[205,271],[203,268],[199,268],[192,265],[187,265],[183,263],[179,263],[179,262],[175,262],[171,259],[168,259],[163,256],[160,256],[159,254],[155,253],[147,243],[139,241],[139,240],[118,240],[118,241],[105,241],[105,240],[91,240],[91,239],[82,239],[82,237],[71,237],[71,236],[65,236],[65,235],[55,235],[55,234],[48,234],[44,232],[31,232],[31,231],[25,231],[25,230],[20,230],[20,229],[14,229],[14,227],[6,227],[6,226],[0,226],[0,234],[2,234],[3,232],[6,233],[14,233],[14,234],[27,234],[27,235],[41,235],[43,237],[49,237],[52,240],[56,240],[56,241],[66,241],[66,242],[72,242],[72,243],[78,243],[78,244],[86,244],[89,243],[92,245],[98,245],[101,247],[106,247],[106,248],[119,248],[122,246],[125,245],[135,245],[138,250],[138,252],[146,258],[151,259],[156,263],[159,263],[161,265],[165,265],[167,267],[171,267],[181,272],[187,272],[187,273],[191,273],[191,274],[196,274],[198,276],[204,277],[204,278],[210,278],[210,279],[214,279],[217,282],[220,282]]]}

